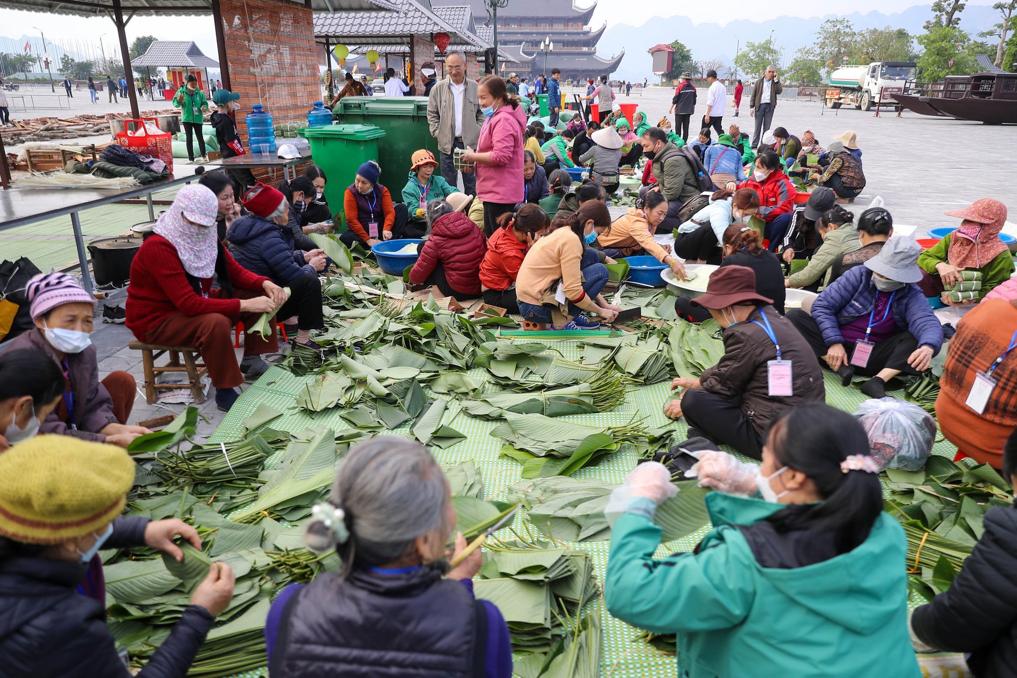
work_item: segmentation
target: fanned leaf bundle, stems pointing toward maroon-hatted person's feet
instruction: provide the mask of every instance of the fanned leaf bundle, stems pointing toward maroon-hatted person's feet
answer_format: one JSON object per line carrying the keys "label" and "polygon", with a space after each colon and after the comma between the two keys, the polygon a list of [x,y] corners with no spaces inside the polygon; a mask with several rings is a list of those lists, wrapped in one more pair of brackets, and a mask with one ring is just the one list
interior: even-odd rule
{"label": "fanned leaf bundle, stems pointing toward maroon-hatted person's feet", "polygon": [[646,446],[650,432],[635,418],[621,427],[569,423],[542,414],[505,412],[491,435],[505,441],[501,454],[523,463],[523,477],[571,475],[598,463],[625,443]]}

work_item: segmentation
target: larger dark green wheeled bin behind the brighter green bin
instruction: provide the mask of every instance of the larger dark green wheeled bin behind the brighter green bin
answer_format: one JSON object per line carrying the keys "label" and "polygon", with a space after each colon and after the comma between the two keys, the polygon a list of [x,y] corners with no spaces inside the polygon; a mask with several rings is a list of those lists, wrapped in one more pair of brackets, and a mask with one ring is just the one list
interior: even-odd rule
{"label": "larger dark green wheeled bin behind the brighter green bin", "polygon": [[376,125],[386,132],[378,139],[377,160],[381,183],[393,195],[402,193],[414,151],[427,149],[438,157],[427,124],[427,97],[344,97],[333,113],[342,123]]}

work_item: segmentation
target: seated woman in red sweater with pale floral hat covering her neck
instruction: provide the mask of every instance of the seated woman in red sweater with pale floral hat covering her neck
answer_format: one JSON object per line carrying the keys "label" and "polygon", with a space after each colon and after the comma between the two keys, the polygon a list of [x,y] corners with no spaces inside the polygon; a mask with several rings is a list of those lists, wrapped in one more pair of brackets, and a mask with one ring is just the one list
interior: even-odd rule
{"label": "seated woman in red sweater with pale floral hat covering her neck", "polygon": [[218,211],[219,200],[205,186],[180,189],[131,264],[127,327],[145,343],[195,346],[216,387],[216,404],[227,411],[240,396],[241,366],[256,369],[261,353],[279,350],[275,333],[264,339],[248,334],[238,365],[230,331],[238,322],[251,327],[282,305],[286,292],[233,260],[216,234]]}

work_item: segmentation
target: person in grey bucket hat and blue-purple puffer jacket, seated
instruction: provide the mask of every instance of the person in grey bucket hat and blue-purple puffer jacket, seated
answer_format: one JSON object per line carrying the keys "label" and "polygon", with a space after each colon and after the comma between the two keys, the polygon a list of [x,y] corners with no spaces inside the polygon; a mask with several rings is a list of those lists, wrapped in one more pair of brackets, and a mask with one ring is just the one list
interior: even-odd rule
{"label": "person in grey bucket hat and blue-purple puffer jacket, seated", "polygon": [[921,247],[894,236],[876,257],[847,271],[813,302],[812,316],[787,314],[847,386],[854,373],[872,376],[861,385],[870,398],[886,395],[886,383],[906,372],[928,370],[943,345],[943,326],[918,286]]}

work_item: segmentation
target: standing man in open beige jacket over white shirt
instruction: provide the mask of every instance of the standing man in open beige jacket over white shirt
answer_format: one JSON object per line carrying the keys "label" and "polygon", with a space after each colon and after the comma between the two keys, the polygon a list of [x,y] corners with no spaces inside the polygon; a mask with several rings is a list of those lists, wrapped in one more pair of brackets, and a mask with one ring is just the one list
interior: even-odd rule
{"label": "standing man in open beige jacket over white shirt", "polygon": [[[445,58],[448,76],[431,88],[427,99],[427,123],[431,136],[438,143],[441,177],[456,186],[459,172],[453,153],[456,149],[477,148],[484,114],[477,99],[477,83],[466,76],[466,57],[462,52],[450,52]],[[477,194],[477,177],[463,172],[463,192]]]}

